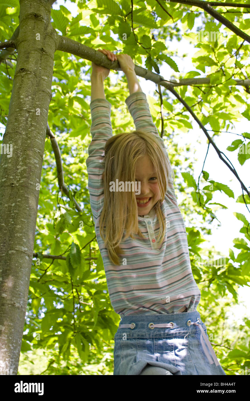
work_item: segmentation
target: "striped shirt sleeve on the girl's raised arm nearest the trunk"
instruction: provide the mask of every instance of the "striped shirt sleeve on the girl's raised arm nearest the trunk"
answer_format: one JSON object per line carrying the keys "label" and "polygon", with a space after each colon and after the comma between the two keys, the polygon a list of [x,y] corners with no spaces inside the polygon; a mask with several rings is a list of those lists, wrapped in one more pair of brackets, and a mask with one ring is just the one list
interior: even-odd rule
{"label": "striped shirt sleeve on the girl's raised arm nearest the trunk", "polygon": [[90,207],[93,221],[96,224],[100,217],[104,203],[104,146],[106,141],[112,137],[112,126],[110,121],[111,103],[106,99],[94,99],[90,102],[92,140],[88,148],[86,160],[88,173],[88,190]]}

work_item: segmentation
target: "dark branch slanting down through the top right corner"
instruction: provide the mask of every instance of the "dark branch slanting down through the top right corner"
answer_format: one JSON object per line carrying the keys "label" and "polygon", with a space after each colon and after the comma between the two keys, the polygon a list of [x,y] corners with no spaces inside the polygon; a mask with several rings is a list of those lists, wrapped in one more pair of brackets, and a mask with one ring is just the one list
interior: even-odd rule
{"label": "dark branch slanting down through the top right corner", "polygon": [[[227,20],[223,15],[221,15],[219,12],[215,11],[211,5],[206,2],[206,1],[201,1],[201,0],[170,0],[171,3],[179,3],[179,4],[185,4],[188,6],[197,6],[199,8],[202,8],[204,11],[206,11],[208,14],[213,16],[216,20],[221,22],[223,25],[225,25],[227,28],[232,30],[237,36],[240,36],[244,41],[247,41],[250,43],[250,36],[247,35],[245,32],[237,28],[232,22]],[[219,5],[219,3],[215,2],[216,5]],[[220,4],[222,5],[222,3]]]}

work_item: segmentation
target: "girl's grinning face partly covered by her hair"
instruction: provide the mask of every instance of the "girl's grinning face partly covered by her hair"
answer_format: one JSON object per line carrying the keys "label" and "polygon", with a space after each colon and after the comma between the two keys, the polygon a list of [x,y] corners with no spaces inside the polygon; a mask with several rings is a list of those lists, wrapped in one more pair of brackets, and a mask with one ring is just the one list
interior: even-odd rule
{"label": "girl's grinning face partly covered by her hair", "polygon": [[[140,195],[136,195],[138,215],[147,215],[161,198],[157,173],[148,156],[141,157],[136,163],[135,180],[140,181]],[[139,201],[141,203],[139,203]],[[142,203],[145,202],[146,203]]]}

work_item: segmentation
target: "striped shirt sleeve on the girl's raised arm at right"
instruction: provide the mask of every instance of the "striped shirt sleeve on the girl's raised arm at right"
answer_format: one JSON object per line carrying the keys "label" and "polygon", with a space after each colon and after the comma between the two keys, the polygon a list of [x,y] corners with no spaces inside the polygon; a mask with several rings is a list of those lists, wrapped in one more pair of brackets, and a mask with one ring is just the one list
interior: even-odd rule
{"label": "striped shirt sleeve on the girl's raised arm at right", "polygon": [[128,106],[128,111],[132,115],[136,130],[141,129],[156,135],[161,146],[164,148],[170,166],[170,176],[167,184],[166,196],[167,198],[169,198],[169,201],[171,201],[171,203],[177,205],[175,189],[173,186],[174,172],[172,170],[171,163],[169,160],[169,154],[167,152],[163,139],[159,136],[159,132],[153,123],[153,119],[149,110],[149,105],[145,93],[144,92],[132,93],[126,98],[125,103]]}

